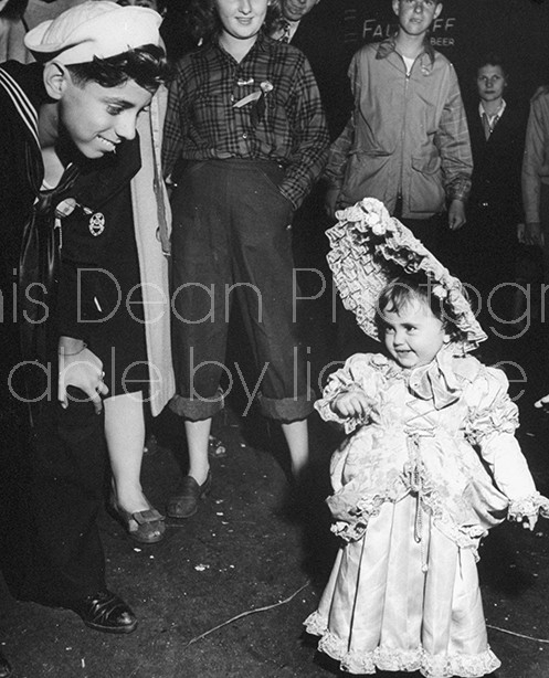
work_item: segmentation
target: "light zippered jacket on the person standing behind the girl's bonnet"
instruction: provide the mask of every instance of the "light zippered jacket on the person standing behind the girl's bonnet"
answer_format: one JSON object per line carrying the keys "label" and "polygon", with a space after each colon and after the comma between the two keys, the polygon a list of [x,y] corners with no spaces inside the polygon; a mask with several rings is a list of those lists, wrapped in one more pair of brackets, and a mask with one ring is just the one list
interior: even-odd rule
{"label": "light zippered jacket on the person standing behind the girl's bonnet", "polygon": [[352,57],[355,110],[330,148],[326,177],[339,188],[338,206],[381,200],[390,213],[427,219],[446,202],[466,201],[473,159],[457,76],[425,43],[410,73],[394,39],[366,45]]}

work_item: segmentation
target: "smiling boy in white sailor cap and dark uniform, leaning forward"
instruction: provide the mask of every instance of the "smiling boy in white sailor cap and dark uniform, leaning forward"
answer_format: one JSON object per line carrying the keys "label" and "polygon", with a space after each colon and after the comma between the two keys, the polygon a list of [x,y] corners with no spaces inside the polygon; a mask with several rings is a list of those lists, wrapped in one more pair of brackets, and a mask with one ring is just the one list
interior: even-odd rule
{"label": "smiling boy in white sailor cap and dark uniform, leaning forward", "polygon": [[[108,352],[101,330],[85,325],[101,310],[101,296],[88,295],[77,274],[92,271],[103,231],[118,237],[131,226],[137,116],[167,71],[159,24],[149,9],[84,2],[27,34],[38,63],[0,66],[0,417],[9,423],[10,468],[17,448],[29,473],[10,478],[25,504],[19,515],[14,501],[11,512],[2,506],[0,561],[19,600],[72,610],[87,626],[118,634],[133,632],[137,619],[107,589],[96,522]],[[99,195],[101,209],[86,208]],[[127,214],[128,224],[114,213]],[[29,529],[15,530],[23,516]]]}

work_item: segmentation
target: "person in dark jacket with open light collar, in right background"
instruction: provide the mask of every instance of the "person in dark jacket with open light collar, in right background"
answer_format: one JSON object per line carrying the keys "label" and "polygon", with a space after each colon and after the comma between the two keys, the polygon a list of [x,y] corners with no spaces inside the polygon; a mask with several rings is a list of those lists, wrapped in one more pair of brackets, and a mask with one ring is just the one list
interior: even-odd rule
{"label": "person in dark jacket with open light collar, in right background", "polygon": [[474,286],[469,290],[488,330],[508,320],[511,310],[508,284],[515,282],[517,229],[524,223],[520,169],[526,110],[504,98],[507,85],[500,57],[487,55],[476,70],[478,99],[467,110],[474,170],[461,273]]}

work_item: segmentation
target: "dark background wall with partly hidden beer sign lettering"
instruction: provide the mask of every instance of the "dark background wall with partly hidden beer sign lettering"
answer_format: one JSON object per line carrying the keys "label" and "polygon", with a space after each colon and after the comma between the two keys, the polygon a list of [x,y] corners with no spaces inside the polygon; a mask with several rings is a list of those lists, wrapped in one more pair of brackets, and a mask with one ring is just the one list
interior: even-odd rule
{"label": "dark background wall with partly hidden beer sign lettering", "polygon": [[[321,0],[315,11],[349,59],[395,30],[390,0]],[[508,98],[526,103],[549,83],[549,0],[445,0],[431,40],[454,64],[464,98],[474,95],[475,64],[487,52],[506,62]]]}

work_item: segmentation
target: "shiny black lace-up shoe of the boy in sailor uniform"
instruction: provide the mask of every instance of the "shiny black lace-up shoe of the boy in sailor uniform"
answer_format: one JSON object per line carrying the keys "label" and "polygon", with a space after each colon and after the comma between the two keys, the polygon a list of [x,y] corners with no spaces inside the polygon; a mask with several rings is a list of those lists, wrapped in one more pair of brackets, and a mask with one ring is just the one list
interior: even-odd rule
{"label": "shiny black lace-up shoe of the boy in sailor uniform", "polygon": [[137,627],[136,615],[110,591],[99,591],[67,606],[82,617],[89,628],[104,633],[131,633]]}

